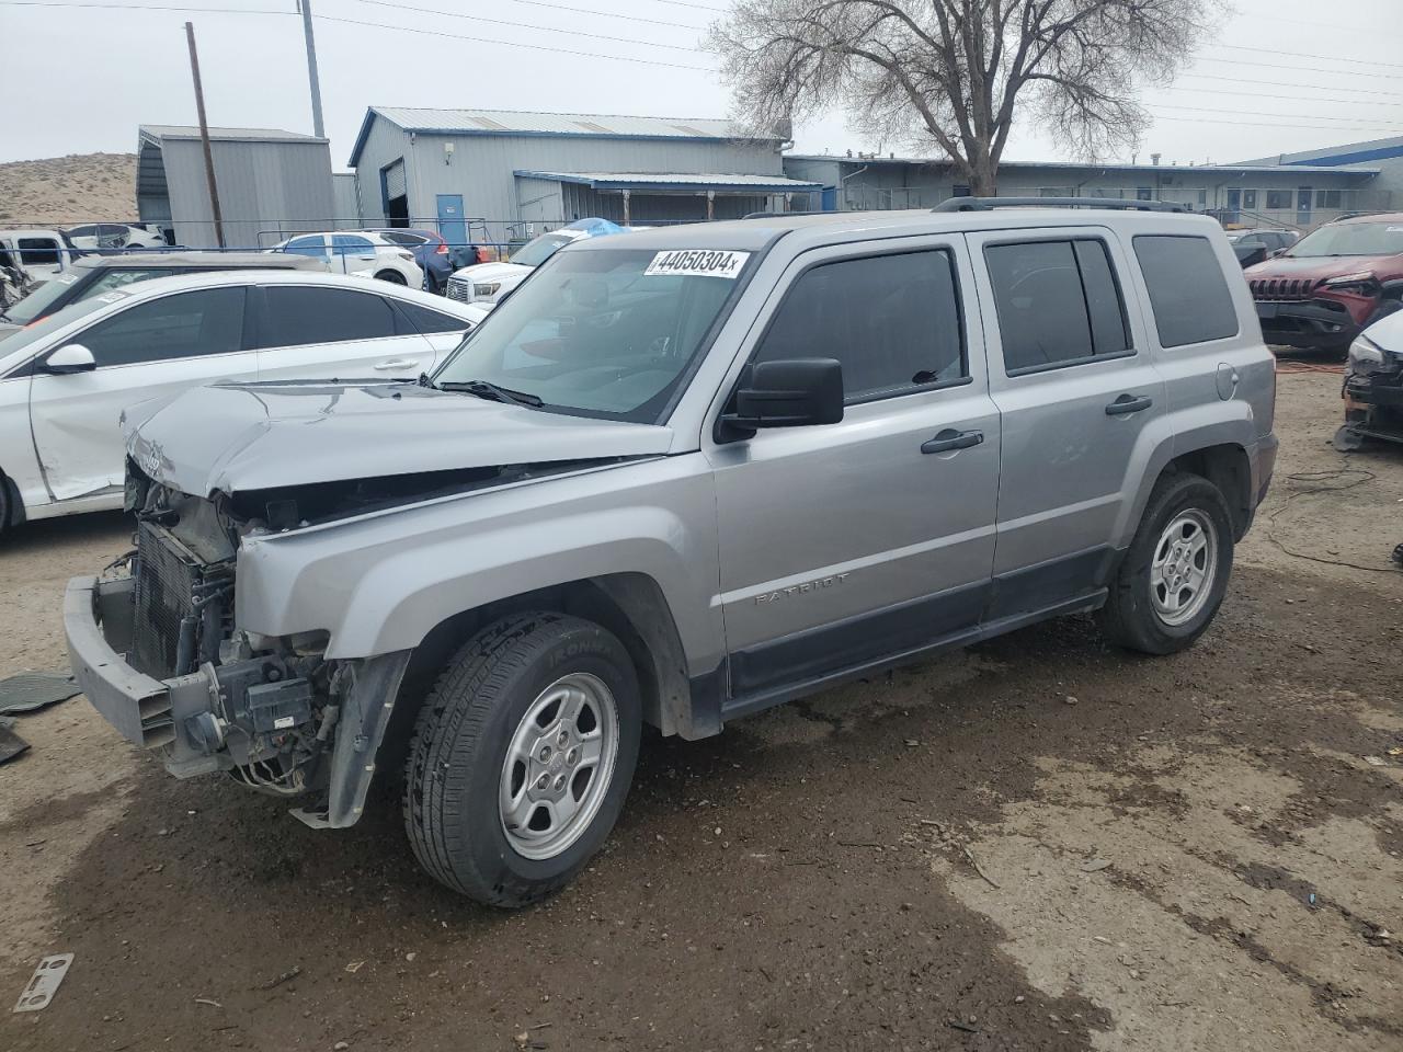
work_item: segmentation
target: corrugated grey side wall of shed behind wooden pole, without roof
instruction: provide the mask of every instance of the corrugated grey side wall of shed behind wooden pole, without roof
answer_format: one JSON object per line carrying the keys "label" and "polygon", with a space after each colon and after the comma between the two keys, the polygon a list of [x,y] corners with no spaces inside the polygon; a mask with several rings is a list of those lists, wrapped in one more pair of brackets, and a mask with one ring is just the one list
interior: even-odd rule
{"label": "corrugated grey side wall of shed behind wooden pole, without roof", "polygon": [[[199,140],[166,139],[161,153],[175,243],[215,247]],[[227,247],[268,247],[297,230],[324,229],[335,217],[325,143],[216,140],[212,153]]]}

